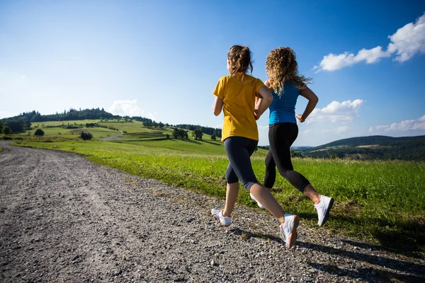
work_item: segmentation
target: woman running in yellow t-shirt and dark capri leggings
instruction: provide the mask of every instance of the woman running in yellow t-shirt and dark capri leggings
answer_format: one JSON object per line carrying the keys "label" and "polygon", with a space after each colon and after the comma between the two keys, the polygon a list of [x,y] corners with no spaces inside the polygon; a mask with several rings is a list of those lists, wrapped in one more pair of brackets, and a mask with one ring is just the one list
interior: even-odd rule
{"label": "woman running in yellow t-shirt and dark capri leggings", "polygon": [[[297,215],[285,214],[271,192],[256,180],[250,159],[259,141],[256,120],[271,104],[273,96],[260,79],[247,74],[248,71],[252,73],[251,52],[248,47],[234,45],[230,48],[227,54],[227,70],[230,74],[220,78],[212,92],[215,95],[212,105],[214,115],[220,115],[223,110],[225,116],[222,141],[229,157],[226,171],[226,203],[224,209],[214,208],[211,214],[224,226],[232,224],[230,215],[236,204],[241,180],[246,190],[278,219],[280,236],[286,247],[292,248],[297,240],[300,219]],[[256,97],[261,98],[257,109]]]}

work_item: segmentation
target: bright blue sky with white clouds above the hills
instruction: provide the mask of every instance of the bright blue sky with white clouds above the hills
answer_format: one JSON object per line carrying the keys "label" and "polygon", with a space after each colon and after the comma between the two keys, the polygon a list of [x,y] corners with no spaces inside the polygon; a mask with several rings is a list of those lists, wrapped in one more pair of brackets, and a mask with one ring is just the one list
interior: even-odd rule
{"label": "bright blue sky with white clouds above the hills", "polygon": [[[414,0],[0,0],[0,118],[104,108],[220,127],[212,90],[239,44],[259,79],[279,46],[314,79],[319,103],[295,146],[425,134],[424,12]],[[258,125],[266,145],[268,111]]]}

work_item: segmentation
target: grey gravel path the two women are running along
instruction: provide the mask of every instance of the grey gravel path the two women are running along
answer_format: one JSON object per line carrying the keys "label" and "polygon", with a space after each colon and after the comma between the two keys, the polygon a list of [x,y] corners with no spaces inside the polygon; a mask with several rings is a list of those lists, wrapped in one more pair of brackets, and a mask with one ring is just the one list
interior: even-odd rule
{"label": "grey gravel path the two women are running along", "polygon": [[287,250],[267,212],[77,154],[0,141],[0,282],[424,282],[424,260],[300,224]]}

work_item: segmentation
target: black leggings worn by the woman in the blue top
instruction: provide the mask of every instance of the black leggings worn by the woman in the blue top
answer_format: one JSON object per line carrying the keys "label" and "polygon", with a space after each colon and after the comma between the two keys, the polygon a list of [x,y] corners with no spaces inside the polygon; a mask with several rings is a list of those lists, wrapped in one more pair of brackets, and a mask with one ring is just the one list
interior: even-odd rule
{"label": "black leggings worn by the woman in the blue top", "polygon": [[270,150],[266,156],[265,187],[273,187],[276,180],[276,166],[278,166],[280,175],[300,192],[304,192],[305,187],[310,184],[303,175],[294,171],[290,161],[290,146],[297,136],[298,126],[295,123],[280,123],[270,125],[268,128]]}

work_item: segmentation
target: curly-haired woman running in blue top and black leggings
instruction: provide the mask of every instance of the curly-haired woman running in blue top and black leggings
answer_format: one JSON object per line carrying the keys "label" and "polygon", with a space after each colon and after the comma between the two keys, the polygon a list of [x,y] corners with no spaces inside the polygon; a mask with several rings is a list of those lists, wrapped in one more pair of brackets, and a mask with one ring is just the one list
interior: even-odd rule
{"label": "curly-haired woman running in blue top and black leggings", "polygon": [[[279,47],[271,50],[266,59],[266,71],[269,79],[265,84],[273,91],[273,102],[269,108],[270,150],[266,156],[264,186],[269,190],[273,187],[276,180],[276,166],[278,166],[280,175],[314,202],[314,208],[319,216],[317,224],[322,226],[329,218],[334,199],[319,195],[307,178],[293,170],[290,160],[290,146],[298,135],[297,120],[304,122],[319,99],[307,87],[311,79],[298,74],[295,52],[291,48]],[[295,119],[295,104],[298,96],[304,96],[309,101],[304,113],[298,114]],[[261,101],[257,105],[259,103]],[[252,195],[251,197],[255,200]],[[258,201],[257,203],[259,207],[262,207],[261,203]]]}

